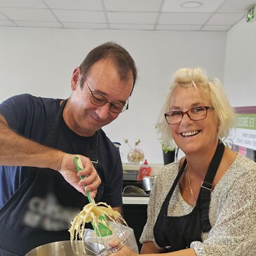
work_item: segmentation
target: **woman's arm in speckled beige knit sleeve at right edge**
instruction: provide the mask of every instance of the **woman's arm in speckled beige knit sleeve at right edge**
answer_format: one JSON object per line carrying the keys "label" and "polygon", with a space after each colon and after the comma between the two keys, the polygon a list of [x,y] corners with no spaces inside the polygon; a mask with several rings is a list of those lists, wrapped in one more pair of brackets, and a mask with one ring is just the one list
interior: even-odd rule
{"label": "woman's arm in speckled beige knit sleeve at right edge", "polygon": [[255,163],[238,156],[212,193],[212,229],[203,242],[194,241],[198,256],[256,255]]}

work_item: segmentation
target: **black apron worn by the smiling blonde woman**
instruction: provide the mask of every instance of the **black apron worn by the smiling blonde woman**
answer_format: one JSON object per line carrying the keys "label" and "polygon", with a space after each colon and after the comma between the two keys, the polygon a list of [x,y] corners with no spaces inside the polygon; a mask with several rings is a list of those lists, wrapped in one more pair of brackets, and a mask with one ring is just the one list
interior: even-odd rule
{"label": "black apron worn by the smiling blonde woman", "polygon": [[154,238],[161,248],[165,248],[163,252],[174,252],[189,248],[191,242],[202,241],[201,233],[208,232],[211,229],[209,220],[210,193],[213,188],[213,180],[220,165],[224,153],[224,144],[220,142],[213,156],[210,166],[206,173],[206,177],[201,184],[198,194],[196,206],[188,215],[175,217],[167,216],[168,205],[173,191],[184,172],[187,165],[186,159],[170,188],[166,199],[163,201],[159,216],[154,226]]}

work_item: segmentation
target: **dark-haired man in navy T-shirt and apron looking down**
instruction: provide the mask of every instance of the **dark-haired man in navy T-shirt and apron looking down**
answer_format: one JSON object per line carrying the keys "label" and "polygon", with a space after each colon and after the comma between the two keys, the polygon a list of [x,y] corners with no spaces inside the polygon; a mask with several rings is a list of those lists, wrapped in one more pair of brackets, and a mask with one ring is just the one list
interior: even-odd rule
{"label": "dark-haired man in navy T-shirt and apron looking down", "polygon": [[69,240],[85,189],[121,211],[121,158],[101,128],[128,109],[136,79],[130,54],[108,42],[74,69],[67,100],[24,94],[0,105],[0,255]]}

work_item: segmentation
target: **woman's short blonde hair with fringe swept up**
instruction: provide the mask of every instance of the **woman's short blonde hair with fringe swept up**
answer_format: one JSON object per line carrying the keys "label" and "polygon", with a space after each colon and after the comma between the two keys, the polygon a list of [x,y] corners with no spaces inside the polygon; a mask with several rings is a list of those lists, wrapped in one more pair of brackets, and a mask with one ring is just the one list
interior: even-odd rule
{"label": "woman's short blonde hair with fringe swept up", "polygon": [[200,68],[182,68],[175,72],[173,83],[159,114],[157,131],[161,135],[161,140],[168,145],[173,139],[170,125],[166,122],[164,114],[170,111],[170,100],[173,97],[173,92],[176,88],[180,87],[196,88],[197,90],[203,90],[209,95],[215,109],[216,122],[219,127],[218,136],[221,139],[226,138],[229,135],[230,128],[234,125],[235,114],[224,93],[222,84],[218,79],[208,78],[206,73]]}

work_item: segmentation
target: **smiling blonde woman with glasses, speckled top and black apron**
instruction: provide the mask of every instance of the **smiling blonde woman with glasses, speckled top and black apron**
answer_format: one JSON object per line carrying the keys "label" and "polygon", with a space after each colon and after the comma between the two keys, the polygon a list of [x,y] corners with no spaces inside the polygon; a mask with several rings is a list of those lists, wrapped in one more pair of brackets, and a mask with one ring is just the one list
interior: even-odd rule
{"label": "smiling blonde woman with glasses, speckled top and black apron", "polygon": [[[198,68],[177,70],[158,128],[185,156],[157,176],[142,254],[256,255],[256,164],[220,140],[233,121],[220,81]],[[123,246],[114,255],[134,252]]]}

